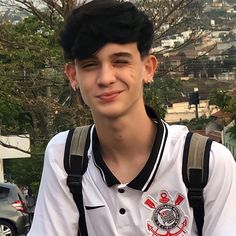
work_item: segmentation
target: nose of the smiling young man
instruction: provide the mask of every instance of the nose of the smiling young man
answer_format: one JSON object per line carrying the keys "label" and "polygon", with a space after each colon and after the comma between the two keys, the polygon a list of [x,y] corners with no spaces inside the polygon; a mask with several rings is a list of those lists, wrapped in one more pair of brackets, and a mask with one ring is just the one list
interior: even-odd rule
{"label": "nose of the smiling young man", "polygon": [[116,81],[115,71],[109,63],[101,65],[98,71],[97,83],[99,86],[109,86]]}

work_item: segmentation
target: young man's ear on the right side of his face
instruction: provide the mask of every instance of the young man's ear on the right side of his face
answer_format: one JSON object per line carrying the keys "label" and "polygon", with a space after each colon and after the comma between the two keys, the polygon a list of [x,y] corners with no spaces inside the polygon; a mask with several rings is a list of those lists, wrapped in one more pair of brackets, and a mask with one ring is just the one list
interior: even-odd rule
{"label": "young man's ear on the right side of his face", "polygon": [[145,72],[144,72],[144,83],[152,83],[154,74],[158,67],[157,58],[154,55],[148,55],[144,59]]}

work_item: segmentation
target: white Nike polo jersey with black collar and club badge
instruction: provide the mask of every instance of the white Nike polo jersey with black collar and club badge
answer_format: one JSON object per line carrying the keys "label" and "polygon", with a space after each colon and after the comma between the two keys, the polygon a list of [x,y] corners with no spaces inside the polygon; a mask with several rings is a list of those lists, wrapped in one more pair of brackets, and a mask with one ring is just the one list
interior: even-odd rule
{"label": "white Nike polo jersey with black collar and club badge", "polygon": [[[89,236],[198,235],[182,180],[187,133],[185,126],[169,126],[159,120],[146,165],[130,183],[120,183],[102,160],[95,128],[91,129],[88,168],[83,175]],[[59,133],[47,146],[28,236],[77,236],[79,213],[63,163],[67,134]],[[203,236],[236,235],[236,164],[229,150],[216,142],[210,152],[204,202]]]}

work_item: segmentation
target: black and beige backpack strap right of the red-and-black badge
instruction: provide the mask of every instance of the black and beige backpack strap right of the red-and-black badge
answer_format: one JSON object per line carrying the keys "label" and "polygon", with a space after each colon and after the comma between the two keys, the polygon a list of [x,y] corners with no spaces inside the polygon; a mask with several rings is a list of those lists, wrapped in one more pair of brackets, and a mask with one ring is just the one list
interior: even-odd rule
{"label": "black and beige backpack strap right of the red-and-black badge", "polygon": [[203,189],[208,181],[211,144],[208,137],[189,132],[184,145],[182,176],[199,236],[204,223]]}

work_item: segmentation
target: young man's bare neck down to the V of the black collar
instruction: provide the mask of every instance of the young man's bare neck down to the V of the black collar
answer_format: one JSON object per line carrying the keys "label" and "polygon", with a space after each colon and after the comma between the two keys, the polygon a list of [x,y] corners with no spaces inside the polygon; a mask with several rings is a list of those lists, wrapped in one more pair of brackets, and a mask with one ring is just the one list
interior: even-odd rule
{"label": "young man's bare neck down to the V of the black collar", "polygon": [[130,182],[147,163],[157,126],[144,105],[115,119],[93,118],[104,162],[121,183]]}

